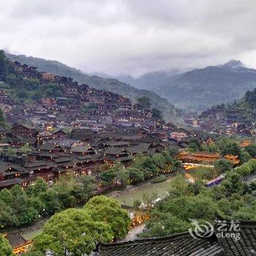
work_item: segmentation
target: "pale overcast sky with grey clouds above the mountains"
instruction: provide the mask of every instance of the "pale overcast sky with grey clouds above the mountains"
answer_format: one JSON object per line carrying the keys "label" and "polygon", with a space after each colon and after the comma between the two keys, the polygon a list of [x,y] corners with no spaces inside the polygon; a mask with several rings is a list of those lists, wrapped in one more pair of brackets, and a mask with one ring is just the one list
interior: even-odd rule
{"label": "pale overcast sky with grey clouds above the mountains", "polygon": [[240,59],[256,68],[255,0],[0,0],[0,48],[84,72],[140,75]]}

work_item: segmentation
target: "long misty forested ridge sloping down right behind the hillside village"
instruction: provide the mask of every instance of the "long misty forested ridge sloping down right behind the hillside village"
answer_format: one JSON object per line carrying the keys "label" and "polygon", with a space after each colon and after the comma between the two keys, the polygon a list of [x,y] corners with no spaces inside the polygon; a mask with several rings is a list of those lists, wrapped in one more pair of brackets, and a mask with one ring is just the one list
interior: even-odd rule
{"label": "long misty forested ridge sloping down right behind the hillside village", "polygon": [[152,107],[162,110],[165,118],[176,118],[181,115],[181,110],[178,110],[167,99],[163,99],[156,93],[147,90],[136,89],[129,86],[127,83],[122,83],[116,79],[102,78],[97,75],[86,75],[78,69],[68,67],[59,61],[49,61],[24,55],[13,55],[7,53],[7,57],[12,61],[19,61],[21,64],[38,67],[39,71],[53,72],[56,75],[71,77],[79,83],[86,83],[96,89],[105,89],[122,94],[132,99],[135,102],[139,97],[146,96],[150,99]]}

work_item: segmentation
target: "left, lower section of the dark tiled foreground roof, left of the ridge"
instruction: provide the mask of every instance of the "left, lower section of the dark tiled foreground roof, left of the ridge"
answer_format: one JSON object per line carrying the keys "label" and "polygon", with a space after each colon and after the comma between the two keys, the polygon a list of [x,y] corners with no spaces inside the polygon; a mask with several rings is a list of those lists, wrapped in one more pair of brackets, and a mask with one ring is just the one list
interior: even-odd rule
{"label": "left, lower section of the dark tiled foreground roof, left of the ridge", "polygon": [[222,256],[217,238],[196,240],[189,233],[101,244],[100,256]]}

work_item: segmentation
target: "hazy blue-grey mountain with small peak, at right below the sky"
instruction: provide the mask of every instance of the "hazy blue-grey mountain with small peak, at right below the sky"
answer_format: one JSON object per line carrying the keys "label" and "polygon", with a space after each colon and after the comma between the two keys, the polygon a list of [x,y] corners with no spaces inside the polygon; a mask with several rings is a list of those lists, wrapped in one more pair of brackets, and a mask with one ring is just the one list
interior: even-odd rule
{"label": "hazy blue-grey mountain with small peak, at right below the sky", "polygon": [[256,87],[256,70],[241,61],[193,69],[165,86],[154,89],[179,108],[205,110],[211,105],[233,102]]}

